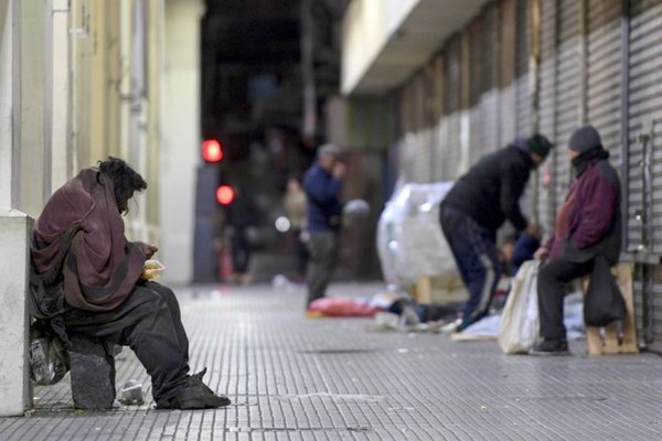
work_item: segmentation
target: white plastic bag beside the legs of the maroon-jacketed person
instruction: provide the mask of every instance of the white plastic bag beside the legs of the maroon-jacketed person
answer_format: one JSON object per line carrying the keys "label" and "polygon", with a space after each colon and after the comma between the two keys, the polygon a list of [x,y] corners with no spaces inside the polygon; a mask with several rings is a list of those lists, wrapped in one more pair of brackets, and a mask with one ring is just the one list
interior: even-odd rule
{"label": "white plastic bag beside the legs of the maroon-jacketed person", "polygon": [[505,354],[528,352],[540,340],[538,266],[538,260],[525,261],[513,278],[499,326],[499,346]]}

